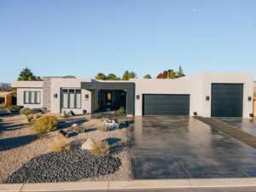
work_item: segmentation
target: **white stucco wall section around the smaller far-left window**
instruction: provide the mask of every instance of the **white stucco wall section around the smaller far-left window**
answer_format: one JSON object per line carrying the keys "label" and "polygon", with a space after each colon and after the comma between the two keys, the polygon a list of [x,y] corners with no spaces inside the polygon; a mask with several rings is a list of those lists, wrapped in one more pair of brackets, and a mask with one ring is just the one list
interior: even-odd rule
{"label": "white stucco wall section around the smaller far-left window", "polygon": [[[25,104],[24,91],[40,91],[41,102],[40,104]],[[43,108],[43,89],[42,88],[17,88],[17,105],[22,105],[24,108]]]}

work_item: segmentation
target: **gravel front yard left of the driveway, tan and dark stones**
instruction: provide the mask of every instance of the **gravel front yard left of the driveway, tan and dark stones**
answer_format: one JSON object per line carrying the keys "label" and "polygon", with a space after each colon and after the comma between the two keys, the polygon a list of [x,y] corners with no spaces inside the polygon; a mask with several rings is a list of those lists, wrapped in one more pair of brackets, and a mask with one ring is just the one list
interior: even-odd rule
{"label": "gravel front yard left of the driveway, tan and dark stones", "polygon": [[[98,131],[96,125],[102,121],[102,118],[92,118],[90,115],[74,116],[64,121],[61,128],[70,135],[67,141],[76,147],[67,152],[49,153],[58,131],[49,132],[44,137],[38,138],[27,128],[25,116],[18,114],[1,117],[0,183],[131,180],[130,127],[114,131]],[[73,123],[83,125],[86,132],[74,134]],[[91,159],[88,151],[80,149],[88,138],[108,142],[110,156]],[[76,159],[82,156],[84,159]],[[63,165],[60,160],[63,160],[61,161]],[[102,162],[101,165],[105,165],[104,167],[96,164],[99,160]],[[44,171],[41,170],[42,168]],[[27,175],[28,172],[30,175]],[[40,177],[38,173],[42,172],[45,174]]]}

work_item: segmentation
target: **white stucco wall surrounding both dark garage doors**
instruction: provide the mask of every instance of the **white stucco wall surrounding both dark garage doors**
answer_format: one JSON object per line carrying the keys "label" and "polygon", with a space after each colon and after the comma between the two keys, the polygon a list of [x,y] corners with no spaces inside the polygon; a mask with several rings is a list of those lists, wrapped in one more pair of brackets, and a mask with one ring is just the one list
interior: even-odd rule
{"label": "white stucco wall surrounding both dark garage doors", "polygon": [[[212,83],[244,84],[243,117],[253,113],[253,103],[247,96],[253,96],[253,75],[251,73],[199,73],[180,79],[131,79],[136,83],[135,115],[143,113],[143,94],[189,94],[189,115],[197,112],[204,117],[211,116]],[[206,101],[210,96],[210,101]]]}

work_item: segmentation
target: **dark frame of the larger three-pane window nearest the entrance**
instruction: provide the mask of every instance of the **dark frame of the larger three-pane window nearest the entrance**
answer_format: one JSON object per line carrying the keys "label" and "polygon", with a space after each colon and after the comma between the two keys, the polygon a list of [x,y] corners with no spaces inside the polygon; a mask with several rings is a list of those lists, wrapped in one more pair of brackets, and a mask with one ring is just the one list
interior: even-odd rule
{"label": "dark frame of the larger three-pane window nearest the entrance", "polygon": [[[65,92],[63,91],[65,90]],[[70,90],[73,90],[70,92]],[[64,99],[63,96],[64,94],[67,94],[67,108],[71,108],[71,100],[70,100],[70,95],[73,94],[73,108],[82,108],[82,90],[80,88],[61,88],[61,108],[64,108]],[[78,107],[78,95],[80,95],[80,106]]]}

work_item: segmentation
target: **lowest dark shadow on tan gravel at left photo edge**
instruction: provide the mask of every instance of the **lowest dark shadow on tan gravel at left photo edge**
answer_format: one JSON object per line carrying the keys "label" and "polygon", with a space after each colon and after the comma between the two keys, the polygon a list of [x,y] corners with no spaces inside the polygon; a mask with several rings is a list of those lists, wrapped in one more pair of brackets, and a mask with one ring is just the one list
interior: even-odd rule
{"label": "lowest dark shadow on tan gravel at left photo edge", "polygon": [[26,135],[20,137],[9,137],[0,139],[0,151],[19,148],[28,143],[32,143],[37,137],[35,135]]}

